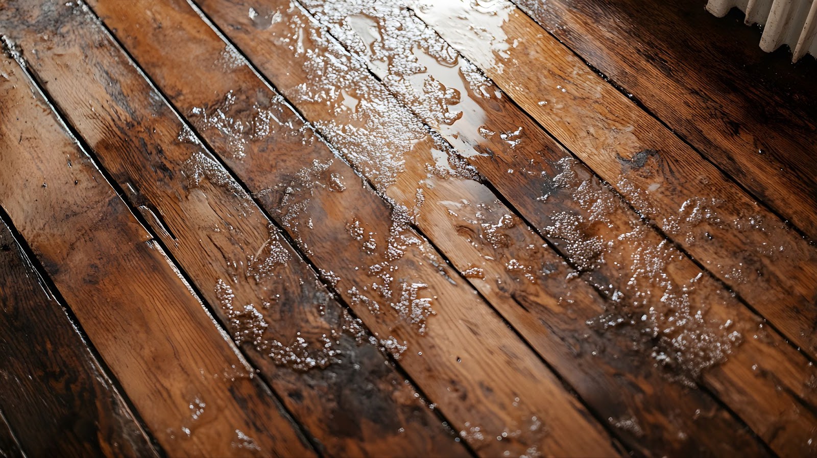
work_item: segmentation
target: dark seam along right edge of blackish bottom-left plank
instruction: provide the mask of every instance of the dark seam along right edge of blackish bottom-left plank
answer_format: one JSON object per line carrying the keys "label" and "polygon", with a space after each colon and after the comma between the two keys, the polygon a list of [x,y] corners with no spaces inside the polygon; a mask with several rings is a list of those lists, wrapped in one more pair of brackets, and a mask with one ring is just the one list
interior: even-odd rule
{"label": "dark seam along right edge of blackish bottom-left plank", "polygon": [[[79,323],[77,316],[74,314],[74,310],[69,307],[68,302],[62,296],[60,290],[56,287],[56,283],[54,283],[51,276],[45,271],[45,268],[42,267],[42,264],[40,263],[40,260],[37,259],[33,249],[25,240],[23,234],[17,230],[13,221],[11,220],[11,216],[8,215],[2,206],[0,206],[0,224],[5,224],[7,226],[9,232],[11,233],[11,239],[14,240],[18,249],[20,250],[20,255],[22,255],[21,257],[31,267],[31,269],[33,269],[34,273],[37,273],[40,286],[49,296],[51,296],[50,300],[56,301],[56,304],[63,310],[66,318],[68,318],[68,321],[71,324],[71,327],[73,327],[74,331],[77,332],[80,340],[82,340],[83,344],[85,345],[85,349],[87,349],[87,351],[91,354],[93,362],[96,362],[96,364],[100,367],[100,375],[105,377],[105,381],[108,382],[111,387],[113,387],[116,394],[118,394],[118,397],[122,398],[125,406],[129,410],[129,413],[136,421],[136,425],[139,425],[141,428],[141,433],[145,434],[145,437],[148,439],[150,446],[154,448],[154,451],[156,451],[158,456],[161,458],[166,458],[167,452],[165,452],[162,446],[159,445],[158,440],[156,440],[150,429],[147,427],[147,424],[145,424],[145,420],[142,419],[141,414],[136,410],[131,398],[127,395],[125,389],[123,389],[122,384],[119,383],[119,380],[116,378],[116,376],[114,376],[113,371],[111,371],[108,367],[108,363],[102,358],[99,351],[97,351],[96,346],[93,345],[91,338],[87,335],[85,329],[83,329],[82,325]],[[6,417],[3,416],[2,411],[0,411],[0,420],[5,421],[6,425],[8,425],[8,421],[6,420]],[[9,430],[11,430],[11,425],[8,425],[8,427]],[[16,437],[14,437],[13,430],[11,430],[11,435],[17,442],[17,447],[20,447],[20,442],[17,441]],[[20,447],[20,451],[23,451],[23,455],[25,456],[25,450],[23,450],[22,447]]]}

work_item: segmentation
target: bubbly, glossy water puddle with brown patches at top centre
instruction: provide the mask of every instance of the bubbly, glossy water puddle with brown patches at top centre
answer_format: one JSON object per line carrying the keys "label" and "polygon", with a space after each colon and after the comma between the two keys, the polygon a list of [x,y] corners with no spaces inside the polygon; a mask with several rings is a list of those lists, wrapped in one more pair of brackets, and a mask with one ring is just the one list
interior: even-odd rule
{"label": "bubbly, glossy water puddle with brown patches at top centre", "polygon": [[469,142],[458,141],[456,133],[467,129],[472,134],[472,122],[458,125],[458,130],[452,125],[464,113],[473,117],[482,112],[474,98],[501,96],[479,69],[460,60],[457,51],[399,3],[307,5],[350,51],[366,58],[368,68],[422,122],[448,136],[462,156],[477,154]]}

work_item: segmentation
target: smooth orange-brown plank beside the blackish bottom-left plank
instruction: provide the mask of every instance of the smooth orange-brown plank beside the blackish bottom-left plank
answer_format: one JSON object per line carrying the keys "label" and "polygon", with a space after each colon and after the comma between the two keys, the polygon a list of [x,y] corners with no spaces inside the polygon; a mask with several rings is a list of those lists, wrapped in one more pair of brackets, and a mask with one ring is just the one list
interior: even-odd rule
{"label": "smooth orange-brown plank beside the blackish bottom-left plank", "polygon": [[20,66],[0,73],[0,205],[163,449],[312,454]]}

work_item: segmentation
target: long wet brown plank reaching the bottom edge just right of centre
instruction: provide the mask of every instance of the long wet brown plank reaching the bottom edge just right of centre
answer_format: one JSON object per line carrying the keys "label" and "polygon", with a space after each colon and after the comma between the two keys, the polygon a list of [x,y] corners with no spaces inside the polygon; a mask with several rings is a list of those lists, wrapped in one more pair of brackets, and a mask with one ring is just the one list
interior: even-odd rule
{"label": "long wet brown plank reaching the bottom edge just right of centre", "polygon": [[[198,25],[194,23],[185,26],[184,20],[174,21],[176,15],[172,14],[172,8],[155,6],[150,8],[150,13],[141,12],[145,11],[142,8],[134,8],[132,11],[131,17],[124,22],[138,24],[131,31],[142,28],[151,30],[145,37],[154,36],[155,29],[150,29],[150,24],[162,24],[162,30],[176,33],[185,29],[195,31],[201,27],[200,22]],[[188,15],[193,12],[188,11]],[[141,20],[134,19],[140,16]],[[156,25],[153,27],[156,28]],[[164,33],[157,34],[161,36]],[[127,37],[127,33],[122,35]],[[166,39],[175,43],[179,38],[184,38],[183,42],[197,43],[197,47],[208,42],[202,41],[199,36],[194,37],[196,38],[176,35]],[[337,291],[364,317],[369,326],[381,338],[396,336],[398,342],[406,342],[410,350],[400,356],[401,364],[426,391],[429,400],[437,405],[436,408],[462,431],[462,435],[485,454],[503,454],[505,451],[521,454],[531,450],[531,447],[563,451],[587,447],[596,449],[596,453],[612,453],[607,445],[607,438],[600,439],[602,442],[592,439],[589,445],[580,445],[556,442],[565,441],[568,434],[554,434],[555,439],[542,436],[540,421],[556,425],[554,428],[568,430],[583,424],[583,429],[589,427],[592,428],[591,431],[598,431],[599,427],[592,420],[569,417],[573,415],[572,410],[580,410],[578,403],[574,404],[574,398],[566,394],[559,382],[548,375],[535,354],[521,345],[520,340],[484,302],[474,296],[466,282],[443,267],[432,247],[418,238],[403,221],[392,220],[390,209],[377,194],[371,189],[355,185],[359,177],[355,176],[350,167],[333,156],[325,145],[311,145],[311,142],[305,145],[303,133],[299,133],[303,128],[302,122],[291,111],[285,113],[287,109],[281,104],[279,97],[259,85],[249,69],[244,68],[239,75],[243,75],[249,82],[255,81],[255,87],[227,84],[231,81],[232,72],[225,73],[223,69],[223,57],[220,54],[225,51],[225,45],[212,32],[210,37],[213,46],[208,45],[211,51],[204,55],[209,56],[209,60],[202,57],[201,61],[191,61],[198,65],[201,72],[190,76],[187,72],[180,75],[175,70],[181,67],[165,64],[165,67],[172,70],[169,74],[173,76],[157,76],[159,87],[163,87],[177,103],[179,100],[188,100],[186,109],[182,107],[185,112],[189,109],[190,113],[194,113],[197,107],[203,107],[208,113],[213,113],[208,110],[221,109],[226,118],[242,123],[257,116],[258,107],[253,108],[253,104],[264,100],[264,108],[268,103],[272,105],[281,125],[276,125],[275,131],[265,131],[258,138],[253,138],[252,135],[243,137],[248,140],[246,145],[239,142],[243,145],[243,157],[234,154],[237,143],[227,141],[230,138],[229,132],[208,125],[201,118],[198,119],[198,127],[230,167],[248,183],[250,189],[260,195],[265,207],[300,242],[301,248],[308,252],[315,265],[326,272],[331,270],[340,277],[336,280]],[[154,38],[150,38],[149,43],[145,44],[148,49],[154,49],[154,46],[163,45],[161,42],[154,42]],[[194,55],[203,56],[201,51],[199,49]],[[189,55],[185,51],[180,54]],[[149,63],[157,60],[161,63],[168,58],[178,59],[175,56],[153,56],[150,52],[141,52],[138,56],[139,60]],[[162,65],[158,65],[158,68],[161,67]],[[155,72],[152,73],[155,75]],[[194,78],[196,75],[202,79]],[[213,75],[218,76],[213,78]],[[203,85],[202,82],[205,81],[208,84]],[[225,82],[225,86],[222,86],[225,90],[212,94],[213,88],[218,87],[221,82]],[[233,92],[235,100],[225,104],[225,100],[230,100],[232,88],[236,89]],[[271,153],[276,153],[275,160],[270,160]],[[308,154],[306,158],[305,154]],[[304,167],[315,160],[319,167]],[[270,185],[274,187],[270,189]],[[342,192],[338,192],[341,190]],[[309,200],[304,202],[304,199]],[[301,207],[303,204],[306,205]],[[400,217],[400,214],[395,217]],[[314,219],[317,224],[310,223],[310,219]],[[360,237],[357,235],[358,230],[363,231],[362,235],[368,236],[361,241],[366,243],[364,247],[361,247],[361,242],[355,242],[355,238]],[[348,232],[352,232],[353,238],[350,238]],[[349,240],[352,240],[351,245]],[[386,249],[390,244],[391,248]],[[413,247],[414,245],[417,247]],[[342,254],[338,254],[339,249],[343,250]],[[401,254],[400,251],[404,253]],[[382,271],[378,272],[377,269]],[[448,278],[440,276],[440,272],[445,273]],[[422,285],[427,287],[423,289]],[[397,301],[397,297],[389,297],[390,293],[377,291],[383,287],[393,289],[391,294],[400,294],[405,299]],[[415,294],[417,300],[412,297]],[[414,304],[401,304],[404,300]],[[418,331],[426,328],[424,315],[427,300],[431,300],[431,306],[437,314],[428,317],[428,330],[425,331],[425,336],[420,336]],[[377,305],[380,309],[375,309],[374,301],[381,304]],[[392,302],[391,306],[389,302]],[[407,309],[403,312],[397,310],[395,313],[395,308],[404,307]],[[402,318],[401,313],[404,315]],[[464,316],[470,318],[462,321]],[[486,338],[492,342],[487,348],[484,345]],[[509,365],[509,358],[511,361],[518,359],[519,362],[511,362]],[[486,364],[487,367],[502,367],[501,371],[507,378],[497,380],[493,371],[489,375]],[[545,383],[542,384],[542,381]],[[519,385],[529,387],[530,396],[525,401],[515,400],[524,398],[520,394],[525,390]],[[551,394],[547,394],[549,391]],[[552,402],[567,402],[569,407],[556,416],[551,416],[542,407]],[[507,438],[502,438],[502,433],[507,434]],[[604,437],[604,433],[593,434]],[[496,440],[497,437],[502,440]]]}

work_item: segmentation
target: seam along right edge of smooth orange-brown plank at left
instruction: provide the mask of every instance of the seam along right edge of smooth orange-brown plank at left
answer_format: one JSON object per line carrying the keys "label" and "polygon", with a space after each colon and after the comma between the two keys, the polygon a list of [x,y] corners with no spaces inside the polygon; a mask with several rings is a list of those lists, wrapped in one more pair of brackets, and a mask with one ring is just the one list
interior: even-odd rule
{"label": "seam along right edge of smooth orange-brown plank at left", "polygon": [[[99,18],[96,15],[94,15],[94,18],[97,21],[99,21]],[[105,33],[109,33],[109,30],[107,28],[105,28]],[[5,41],[6,40],[4,39],[4,42]],[[128,57],[130,56],[128,55]],[[15,56],[15,59],[17,60],[17,56]],[[225,336],[229,345],[232,347],[232,350],[236,353],[237,356],[239,356],[239,359],[243,360],[242,362],[252,371],[253,376],[257,376],[258,374],[257,368],[254,365],[252,365],[252,362],[250,358],[248,358],[243,347],[237,345],[234,342],[234,340],[232,340],[232,338],[230,337],[230,334],[227,331],[225,331],[225,323],[221,322],[221,320],[218,318],[217,314],[212,308],[212,305],[210,305],[207,300],[203,300],[204,296],[202,295],[201,291],[199,291],[199,288],[196,287],[194,282],[191,281],[190,276],[185,272],[185,270],[181,269],[175,257],[172,255],[172,252],[167,249],[162,239],[159,238],[156,233],[154,233],[152,226],[148,224],[144,216],[141,215],[141,212],[134,211],[135,209],[132,207],[130,202],[128,202],[126,198],[123,198],[123,195],[126,195],[123,189],[118,185],[118,183],[113,179],[113,177],[110,176],[109,172],[105,170],[104,167],[101,166],[101,163],[96,158],[96,153],[94,153],[93,149],[89,145],[87,145],[86,141],[82,136],[79,135],[78,131],[76,131],[74,127],[71,124],[69,124],[69,122],[66,121],[65,115],[62,112],[62,110],[52,102],[51,97],[48,95],[46,89],[42,87],[37,78],[34,78],[33,75],[29,73],[29,69],[25,66],[25,64],[23,64],[23,62],[25,61],[18,60],[18,64],[20,64],[20,67],[22,67],[25,74],[31,80],[33,86],[38,89],[38,91],[42,95],[42,98],[51,108],[51,112],[54,113],[56,118],[59,120],[60,124],[63,127],[65,127],[65,129],[67,129],[69,136],[72,137],[74,142],[78,145],[79,149],[86,154],[87,158],[89,158],[94,167],[96,167],[96,169],[100,171],[101,176],[103,176],[105,180],[108,181],[108,184],[114,189],[114,192],[118,194],[120,200],[123,201],[123,203],[127,206],[127,209],[131,211],[132,215],[136,218],[136,220],[139,221],[139,224],[141,224],[145,231],[150,234],[151,239],[145,241],[145,243],[154,242],[161,249],[162,255],[164,256],[165,260],[167,260],[167,264],[174,271],[176,271],[176,273],[179,275],[179,278],[181,278],[182,282],[185,283],[185,286],[188,287],[191,296],[194,296],[194,298],[199,301],[199,304],[202,305],[205,313],[208,313],[209,318],[211,318],[211,321],[216,326],[217,331],[221,334],[221,336]],[[140,73],[144,76],[144,73],[141,72],[141,68],[137,66],[136,69],[139,69]],[[315,451],[315,453],[318,456],[323,457],[323,454],[320,453],[319,449],[313,445],[313,442],[311,440],[312,438],[311,434],[308,433],[308,430],[306,430],[306,428],[303,425],[301,425],[300,422],[295,420],[294,416],[292,416],[292,412],[290,412],[289,409],[284,405],[279,394],[276,393],[274,389],[272,389],[272,387],[267,383],[267,381],[264,378],[259,377],[259,380],[261,381],[262,390],[266,390],[271,395],[271,397],[275,401],[276,407],[278,407],[279,411],[281,411],[283,416],[290,421],[290,423],[294,427],[293,429],[295,430],[296,434],[300,436],[301,441],[304,442],[305,444],[309,444],[310,449]]]}

